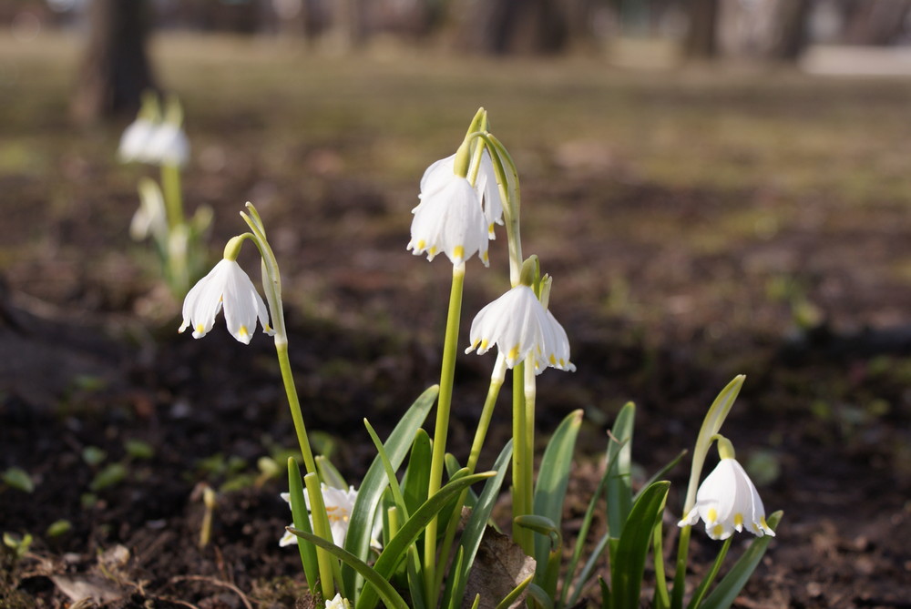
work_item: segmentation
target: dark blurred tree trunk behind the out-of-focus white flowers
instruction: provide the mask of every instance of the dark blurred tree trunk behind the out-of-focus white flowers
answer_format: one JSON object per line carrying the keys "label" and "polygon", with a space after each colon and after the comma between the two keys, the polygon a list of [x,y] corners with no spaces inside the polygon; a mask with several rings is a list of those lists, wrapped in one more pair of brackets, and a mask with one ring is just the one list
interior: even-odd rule
{"label": "dark blurred tree trunk behind the out-of-focus white flowers", "polygon": [[146,55],[146,0],[91,0],[88,45],[72,112],[81,122],[136,112],[154,86]]}

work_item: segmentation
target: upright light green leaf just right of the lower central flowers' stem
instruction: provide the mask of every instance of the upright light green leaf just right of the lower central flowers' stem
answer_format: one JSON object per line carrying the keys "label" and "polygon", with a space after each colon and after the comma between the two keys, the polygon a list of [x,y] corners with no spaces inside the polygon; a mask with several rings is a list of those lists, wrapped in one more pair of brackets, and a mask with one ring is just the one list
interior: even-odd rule
{"label": "upright light green leaf just right of the lower central flowers' stem", "polygon": [[[537,516],[549,518],[559,529],[563,517],[563,503],[566,500],[569,468],[572,466],[573,450],[576,447],[578,428],[582,423],[582,411],[572,411],[560,422],[557,431],[548,442],[535,485],[535,507]],[[542,585],[547,579],[547,565],[550,547],[546,537],[535,538],[535,560],[537,572],[535,582]],[[548,590],[554,596],[556,590]]]}

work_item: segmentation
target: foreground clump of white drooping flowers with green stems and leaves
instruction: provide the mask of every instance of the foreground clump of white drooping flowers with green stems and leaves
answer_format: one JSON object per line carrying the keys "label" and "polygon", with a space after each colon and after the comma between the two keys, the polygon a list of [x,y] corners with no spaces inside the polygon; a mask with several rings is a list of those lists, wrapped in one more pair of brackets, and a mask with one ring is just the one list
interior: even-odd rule
{"label": "foreground clump of white drooping flowers with green stems and leaves", "polygon": [[[179,330],[192,330],[193,337],[200,339],[212,330],[223,311],[236,340],[250,343],[257,325],[274,340],[303,464],[302,472],[295,459],[287,460],[289,492],[285,497],[293,523],[281,545],[297,545],[310,590],[326,607],[374,609],[380,603],[396,609],[461,607],[478,549],[492,534],[488,523],[493,507],[511,470],[512,540],[527,557],[531,574],[512,580],[508,584],[511,591],[488,601],[505,607],[524,597],[533,607],[568,607],[581,600],[586,585],[597,577],[602,606],[638,607],[651,555],[656,579],[651,603],[661,609],[682,609],[691,527],[702,520],[707,534],[723,543],[687,607],[729,606],[758,564],[781,516],[774,513],[766,520],[762,500],[736,461],[731,442],[720,433],[742,386],[742,376],[711,405],[692,452],[672,581],[666,574],[662,548],[670,482],[660,478],[683,455],[633,492],[632,404],[614,421],[604,476],[589,502],[569,563],[561,563],[568,541],[561,517],[582,413],[570,413],[558,426],[536,471],[537,375],[548,368],[573,371],[576,367],[570,360],[567,333],[550,310],[553,279],[541,272],[537,256],[523,254],[519,193],[517,167],[506,147],[488,130],[486,111],[481,108],[455,154],[425,171],[407,246],[428,260],[445,254],[452,264],[440,382],[417,398],[385,441],[364,421],[376,456],[356,489],[328,459],[312,451],[288,356],[278,261],[256,208],[247,203],[241,211],[249,231],[230,239],[221,261],[189,290]],[[489,266],[488,245],[497,224],[506,227],[509,282],[501,297],[476,314],[469,330],[466,352],[483,355],[496,347],[497,353],[463,466],[446,448],[466,262],[476,257]],[[237,262],[247,241],[261,255],[265,300]],[[490,471],[476,472],[507,370],[512,370],[512,437]],[[431,411],[435,411],[432,433],[423,429]],[[712,444],[717,445],[721,461],[700,484]],[[269,463],[263,472],[275,469]],[[589,546],[589,531],[602,496],[608,533],[597,540],[595,551],[583,563],[583,549]],[[757,539],[722,581],[714,584],[733,533],[743,530]],[[609,569],[600,565],[605,554]],[[476,606],[480,598],[473,600]]]}

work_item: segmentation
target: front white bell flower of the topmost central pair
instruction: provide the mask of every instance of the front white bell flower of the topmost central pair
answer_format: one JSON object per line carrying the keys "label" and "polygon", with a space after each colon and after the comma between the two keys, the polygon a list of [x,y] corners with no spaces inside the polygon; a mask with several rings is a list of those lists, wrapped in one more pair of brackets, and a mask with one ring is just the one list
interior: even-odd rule
{"label": "front white bell flower of the topmost central pair", "polygon": [[426,252],[428,260],[445,252],[454,265],[477,254],[487,265],[488,238],[480,197],[471,182],[453,173],[451,161],[444,158],[427,167],[419,197],[421,203],[412,209],[415,218],[407,249],[413,249],[415,256]]}

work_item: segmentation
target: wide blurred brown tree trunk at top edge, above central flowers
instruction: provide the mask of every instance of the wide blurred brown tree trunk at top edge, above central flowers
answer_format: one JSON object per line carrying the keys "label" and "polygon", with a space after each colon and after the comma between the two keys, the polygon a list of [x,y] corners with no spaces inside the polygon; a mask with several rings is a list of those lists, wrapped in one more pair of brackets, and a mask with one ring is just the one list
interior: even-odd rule
{"label": "wide blurred brown tree trunk at top edge, above central flowers", "polygon": [[481,0],[463,23],[460,46],[496,55],[557,53],[568,43],[558,0]]}

